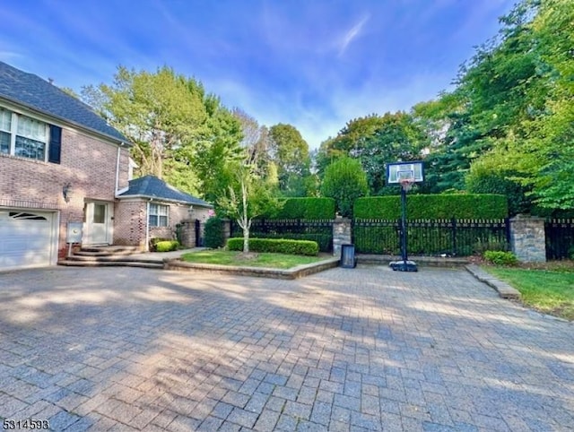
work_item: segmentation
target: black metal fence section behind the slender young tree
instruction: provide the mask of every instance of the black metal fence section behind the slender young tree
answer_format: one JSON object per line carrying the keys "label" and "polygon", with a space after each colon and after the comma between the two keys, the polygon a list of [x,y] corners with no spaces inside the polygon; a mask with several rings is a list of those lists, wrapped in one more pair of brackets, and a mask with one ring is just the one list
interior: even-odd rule
{"label": "black metal fence section behind the slender young tree", "polygon": [[[321,252],[333,252],[332,220],[256,219],[249,230],[251,238],[291,238],[316,241]],[[243,237],[236,221],[231,223],[231,237]]]}

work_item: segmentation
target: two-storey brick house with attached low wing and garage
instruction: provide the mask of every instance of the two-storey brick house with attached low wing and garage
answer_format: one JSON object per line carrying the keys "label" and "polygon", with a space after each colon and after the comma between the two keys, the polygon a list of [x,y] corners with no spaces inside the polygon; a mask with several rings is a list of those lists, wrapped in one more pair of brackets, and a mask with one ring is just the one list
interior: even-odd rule
{"label": "two-storey brick house with attached low wing and garage", "polygon": [[[57,264],[68,227],[83,246],[146,249],[146,236],[173,238],[180,221],[206,218],[211,206],[200,200],[126,195],[133,190],[129,149],[82,101],[0,62],[0,270]],[[160,192],[173,192],[161,184]]]}

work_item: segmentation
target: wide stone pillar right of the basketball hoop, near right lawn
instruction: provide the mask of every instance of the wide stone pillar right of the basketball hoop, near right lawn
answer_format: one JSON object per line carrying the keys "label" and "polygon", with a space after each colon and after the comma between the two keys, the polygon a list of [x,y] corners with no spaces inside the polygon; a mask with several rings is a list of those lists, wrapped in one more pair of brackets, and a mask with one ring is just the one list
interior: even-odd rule
{"label": "wide stone pillar right of the basketball hoop, near right lawn", "polygon": [[510,249],[524,263],[546,261],[544,219],[518,214],[510,220]]}

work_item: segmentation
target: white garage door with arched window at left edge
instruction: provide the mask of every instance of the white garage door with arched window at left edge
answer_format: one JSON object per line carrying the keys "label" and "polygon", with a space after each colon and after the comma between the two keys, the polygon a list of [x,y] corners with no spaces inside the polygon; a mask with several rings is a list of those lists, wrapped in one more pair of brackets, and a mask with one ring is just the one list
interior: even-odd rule
{"label": "white garage door with arched window at left edge", "polygon": [[0,209],[0,270],[54,264],[55,212]]}

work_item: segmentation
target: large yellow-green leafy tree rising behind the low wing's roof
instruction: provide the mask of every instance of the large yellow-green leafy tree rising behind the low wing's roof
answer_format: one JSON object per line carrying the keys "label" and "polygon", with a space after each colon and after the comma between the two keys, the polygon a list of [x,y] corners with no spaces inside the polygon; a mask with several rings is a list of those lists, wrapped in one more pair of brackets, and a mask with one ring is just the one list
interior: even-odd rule
{"label": "large yellow-green leafy tree rising behind the low wing's roof", "polygon": [[86,86],[83,100],[131,143],[137,174],[214,202],[241,158],[241,125],[201,82],[164,66],[155,73],[117,68],[111,85]]}

